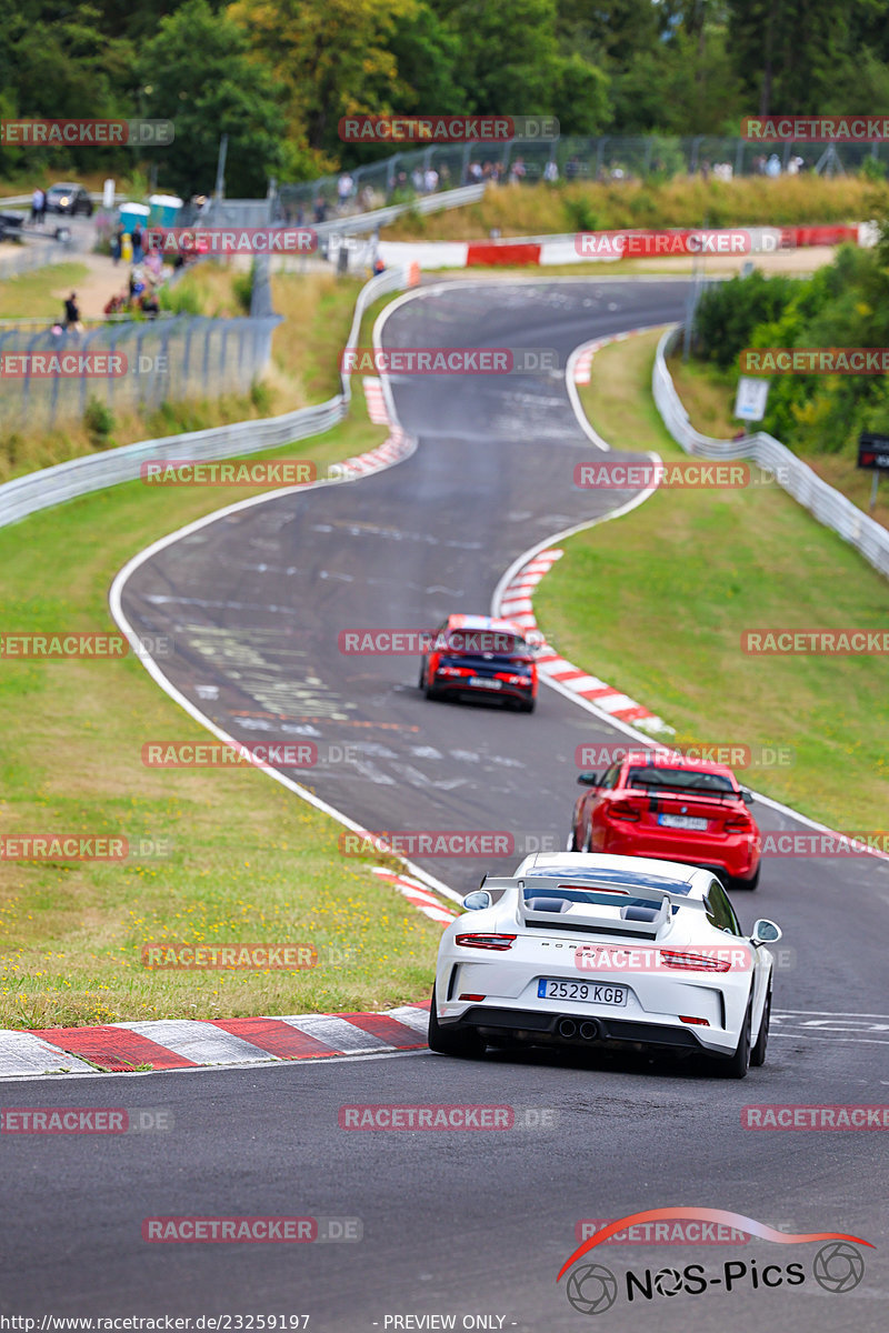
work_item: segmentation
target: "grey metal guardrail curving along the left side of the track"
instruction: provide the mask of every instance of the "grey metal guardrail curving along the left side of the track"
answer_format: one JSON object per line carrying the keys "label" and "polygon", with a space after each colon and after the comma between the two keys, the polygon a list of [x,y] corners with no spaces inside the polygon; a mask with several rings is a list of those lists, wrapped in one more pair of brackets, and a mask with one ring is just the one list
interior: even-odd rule
{"label": "grey metal guardrail curving along the left side of the track", "polygon": [[[368,307],[380,296],[404,291],[409,285],[409,272],[408,268],[389,269],[365,283],[355,305],[347,348],[357,345],[361,317]],[[53,468],[16,477],[0,485],[0,527],[17,523],[31,513],[63,504],[65,500],[75,500],[123,481],[136,481],[141,464],[149,459],[165,461],[193,459],[209,463],[260,453],[329,431],[345,417],[352,397],[349,375],[345,371],[341,372],[341,383],[343,392],[317,407],[300,408],[264,421],[235,421],[232,425],[209,431],[141,440],[137,444],[125,444],[119,449],[72,459],[69,463],[59,463]]]}

